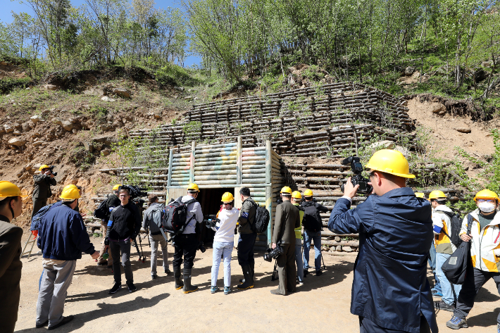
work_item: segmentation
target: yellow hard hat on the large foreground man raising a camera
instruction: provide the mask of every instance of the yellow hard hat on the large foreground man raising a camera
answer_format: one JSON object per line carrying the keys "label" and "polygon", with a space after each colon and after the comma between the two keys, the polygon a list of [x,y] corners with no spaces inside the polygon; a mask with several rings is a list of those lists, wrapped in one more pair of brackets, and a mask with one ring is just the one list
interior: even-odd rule
{"label": "yellow hard hat on the large foreground man raising a camera", "polygon": [[381,149],[375,152],[366,168],[398,177],[415,178],[415,175],[411,175],[410,166],[403,154],[392,149]]}

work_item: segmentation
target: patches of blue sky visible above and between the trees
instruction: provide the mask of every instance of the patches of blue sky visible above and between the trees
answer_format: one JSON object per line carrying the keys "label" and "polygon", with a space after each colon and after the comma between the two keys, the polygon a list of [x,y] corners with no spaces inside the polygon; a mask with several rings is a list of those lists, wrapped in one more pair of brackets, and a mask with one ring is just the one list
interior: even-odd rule
{"label": "patches of blue sky visible above and between the trees", "polygon": [[[31,11],[30,6],[27,4],[20,4],[20,1],[18,0],[0,0],[1,1],[1,7],[3,8],[0,11],[0,22],[1,23],[11,23],[12,22],[12,12],[14,13],[20,13],[20,12],[25,12],[28,13],[32,16],[34,16],[33,12]],[[70,0],[71,4],[73,7],[79,7],[82,4],[85,4],[85,0]],[[173,7],[173,8],[181,8],[180,6],[180,1],[175,1],[175,0],[156,0],[155,4],[156,8],[167,8],[167,7]],[[198,56],[188,56],[186,60],[184,61],[184,65],[186,67],[189,67],[190,65],[193,64],[199,64],[201,63],[201,58]]]}

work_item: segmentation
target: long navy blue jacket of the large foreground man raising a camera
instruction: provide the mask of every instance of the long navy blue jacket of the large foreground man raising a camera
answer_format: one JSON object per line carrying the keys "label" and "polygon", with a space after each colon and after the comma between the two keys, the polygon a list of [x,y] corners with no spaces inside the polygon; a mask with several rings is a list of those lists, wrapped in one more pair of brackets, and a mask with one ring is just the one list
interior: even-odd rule
{"label": "long navy blue jacket of the large foreground man raising a camera", "polygon": [[420,332],[422,313],[432,332],[438,332],[427,281],[433,238],[430,203],[404,187],[350,206],[348,199],[337,201],[328,229],[359,233],[351,313],[411,333]]}

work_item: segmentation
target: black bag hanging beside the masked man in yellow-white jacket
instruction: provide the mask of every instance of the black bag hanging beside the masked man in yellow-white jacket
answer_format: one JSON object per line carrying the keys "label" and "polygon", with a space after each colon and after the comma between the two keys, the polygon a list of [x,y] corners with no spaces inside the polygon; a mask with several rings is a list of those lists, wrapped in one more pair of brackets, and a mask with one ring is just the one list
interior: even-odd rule
{"label": "black bag hanging beside the masked man in yellow-white jacket", "polygon": [[[473,217],[469,214],[467,217],[467,234],[470,234],[472,221]],[[470,241],[462,241],[441,267],[446,279],[452,284],[463,284],[470,260]]]}

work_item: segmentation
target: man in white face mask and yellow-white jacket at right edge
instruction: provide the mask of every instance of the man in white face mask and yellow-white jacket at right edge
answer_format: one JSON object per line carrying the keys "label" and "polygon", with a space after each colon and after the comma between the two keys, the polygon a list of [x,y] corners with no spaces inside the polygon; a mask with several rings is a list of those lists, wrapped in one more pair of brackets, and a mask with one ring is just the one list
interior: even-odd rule
{"label": "man in white face mask and yellow-white jacket at right edge", "polygon": [[[477,192],[474,201],[477,209],[468,215],[473,220],[470,235],[467,234],[468,216],[462,222],[460,238],[470,241],[470,256],[472,265],[468,265],[456,309],[446,326],[452,329],[468,327],[465,319],[474,306],[474,300],[481,287],[491,278],[496,283],[500,294],[500,215],[499,196],[494,191],[483,189]],[[496,327],[500,332],[500,314],[496,318]]]}

